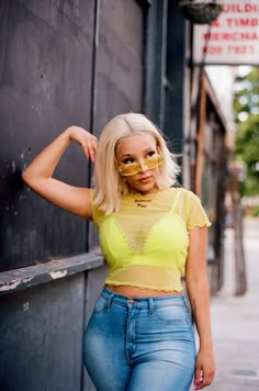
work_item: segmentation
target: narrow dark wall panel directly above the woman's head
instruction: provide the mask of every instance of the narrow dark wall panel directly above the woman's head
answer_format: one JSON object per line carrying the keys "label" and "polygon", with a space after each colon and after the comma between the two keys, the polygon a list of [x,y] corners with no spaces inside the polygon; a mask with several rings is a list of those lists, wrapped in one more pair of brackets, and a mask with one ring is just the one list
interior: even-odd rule
{"label": "narrow dark wall panel directly above the woman's head", "polygon": [[142,111],[143,11],[133,0],[100,2],[94,132],[114,115]]}

